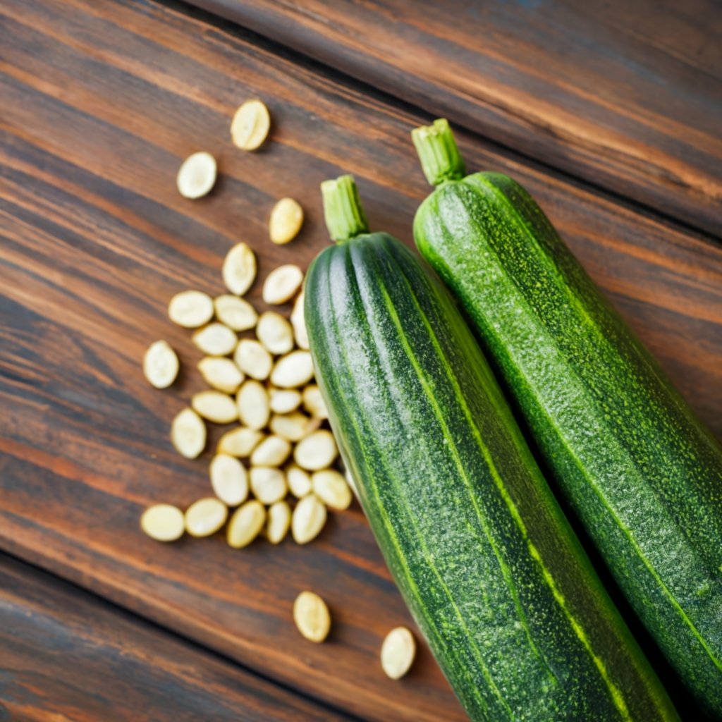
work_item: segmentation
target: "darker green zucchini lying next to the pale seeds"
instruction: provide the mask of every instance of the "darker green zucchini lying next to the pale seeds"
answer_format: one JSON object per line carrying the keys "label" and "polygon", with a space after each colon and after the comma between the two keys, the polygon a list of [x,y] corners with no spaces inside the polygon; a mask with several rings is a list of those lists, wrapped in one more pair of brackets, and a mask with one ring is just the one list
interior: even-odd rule
{"label": "darker green zucchini lying next to the pale seeds", "polygon": [[326,181],[305,282],[331,427],[388,567],[473,720],[677,719],[435,274]]}

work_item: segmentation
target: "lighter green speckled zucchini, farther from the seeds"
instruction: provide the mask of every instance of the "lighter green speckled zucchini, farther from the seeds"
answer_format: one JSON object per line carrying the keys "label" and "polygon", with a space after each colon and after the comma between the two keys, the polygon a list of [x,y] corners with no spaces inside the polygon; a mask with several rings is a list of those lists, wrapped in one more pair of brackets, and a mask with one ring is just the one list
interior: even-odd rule
{"label": "lighter green speckled zucchini, farther from the seeds", "polygon": [[466,311],[553,479],[682,682],[722,718],[722,451],[526,191],[464,178],[446,121],[419,251]]}

